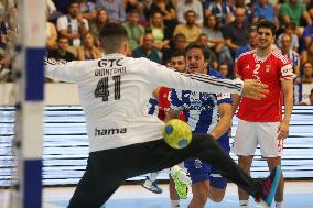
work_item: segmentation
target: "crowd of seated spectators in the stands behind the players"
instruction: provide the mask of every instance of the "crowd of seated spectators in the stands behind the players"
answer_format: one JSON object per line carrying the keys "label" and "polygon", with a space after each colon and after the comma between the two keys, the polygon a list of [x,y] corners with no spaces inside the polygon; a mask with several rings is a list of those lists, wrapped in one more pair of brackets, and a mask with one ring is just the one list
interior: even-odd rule
{"label": "crowd of seated spectators in the stands behind the players", "polygon": [[[11,2],[10,0],[7,0]],[[277,26],[277,47],[294,73],[294,103],[310,100],[313,88],[313,0],[46,0],[47,56],[94,59],[106,52],[99,30],[121,23],[129,35],[129,56],[160,64],[194,41],[212,50],[211,67],[234,78],[234,63],[257,44],[256,23]],[[4,2],[4,1],[3,1]],[[3,4],[3,3],[2,3]],[[17,39],[17,6],[0,3],[0,78],[10,70]],[[7,6],[8,7],[8,6]],[[1,12],[2,11],[2,12]],[[309,105],[309,102],[306,103]]]}

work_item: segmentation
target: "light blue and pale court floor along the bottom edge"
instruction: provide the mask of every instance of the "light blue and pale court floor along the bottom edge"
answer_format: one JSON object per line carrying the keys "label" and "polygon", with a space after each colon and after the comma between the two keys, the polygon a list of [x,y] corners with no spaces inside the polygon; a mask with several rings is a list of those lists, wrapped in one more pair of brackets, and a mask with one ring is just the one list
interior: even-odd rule
{"label": "light blue and pale court floor along the bottom edge", "polygon": [[[106,204],[106,208],[169,208],[170,199],[168,186],[162,185],[163,194],[152,194],[141,186],[122,186]],[[74,188],[48,188],[44,191],[43,208],[65,208]],[[313,180],[288,182],[285,185],[284,208],[313,208]],[[187,207],[188,199],[182,200],[181,206]],[[229,184],[224,201],[219,204],[207,202],[206,208],[238,208],[237,187]],[[250,199],[250,207],[258,207]],[[272,205],[272,208],[274,206]]]}

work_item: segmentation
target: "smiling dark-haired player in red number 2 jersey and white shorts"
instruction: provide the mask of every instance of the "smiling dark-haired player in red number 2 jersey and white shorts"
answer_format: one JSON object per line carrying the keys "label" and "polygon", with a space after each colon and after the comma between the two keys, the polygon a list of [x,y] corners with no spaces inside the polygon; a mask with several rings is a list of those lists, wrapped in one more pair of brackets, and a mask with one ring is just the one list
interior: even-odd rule
{"label": "smiling dark-haired player in red number 2 jersey and white shorts", "polygon": [[[257,26],[257,48],[241,54],[236,63],[237,76],[242,80],[257,79],[269,86],[269,94],[261,100],[241,98],[237,113],[239,121],[233,151],[239,157],[238,165],[248,174],[258,144],[270,171],[280,165],[282,141],[289,134],[293,107],[293,74],[290,61],[278,50],[273,50],[274,32],[272,23],[261,21]],[[234,106],[238,106],[238,102],[239,100]],[[249,196],[240,188],[238,194],[240,207],[248,207]],[[276,202],[277,208],[282,208],[282,177]]]}

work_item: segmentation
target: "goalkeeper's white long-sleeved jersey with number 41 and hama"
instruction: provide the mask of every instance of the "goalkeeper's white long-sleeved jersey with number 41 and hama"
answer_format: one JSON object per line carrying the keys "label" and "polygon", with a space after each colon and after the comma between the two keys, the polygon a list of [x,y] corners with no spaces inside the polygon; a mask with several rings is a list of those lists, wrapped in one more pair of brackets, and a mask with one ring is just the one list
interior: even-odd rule
{"label": "goalkeeper's white long-sleeved jersey with number 41 and hama", "polygon": [[164,123],[147,113],[156,87],[213,94],[240,94],[242,88],[240,80],[180,74],[147,58],[120,54],[65,64],[46,59],[45,64],[47,77],[78,85],[90,152],[160,140]]}

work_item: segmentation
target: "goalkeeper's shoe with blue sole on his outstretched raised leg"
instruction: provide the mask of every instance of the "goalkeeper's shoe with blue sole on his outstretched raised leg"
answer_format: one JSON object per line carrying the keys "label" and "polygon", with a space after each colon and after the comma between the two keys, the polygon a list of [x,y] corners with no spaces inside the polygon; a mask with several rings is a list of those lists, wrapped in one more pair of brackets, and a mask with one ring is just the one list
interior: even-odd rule
{"label": "goalkeeper's shoe with blue sole on his outstretched raised leg", "polygon": [[274,195],[276,195],[276,190],[278,188],[280,176],[281,176],[281,167],[277,166],[271,172],[269,177],[267,177],[263,180],[261,193],[258,197],[256,197],[256,201],[259,202],[259,205],[262,208],[270,208],[271,207],[272,200],[273,200]]}

